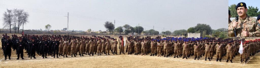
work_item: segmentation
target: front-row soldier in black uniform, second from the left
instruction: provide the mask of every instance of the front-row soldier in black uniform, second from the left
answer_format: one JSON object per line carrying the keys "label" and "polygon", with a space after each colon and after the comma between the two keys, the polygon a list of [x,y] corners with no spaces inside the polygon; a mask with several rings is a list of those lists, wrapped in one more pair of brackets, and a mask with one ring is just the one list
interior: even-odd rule
{"label": "front-row soldier in black uniform, second from the left", "polygon": [[17,59],[19,59],[20,54],[21,54],[21,58],[23,58],[23,48],[24,48],[24,43],[22,42],[22,39],[20,39],[19,42],[17,42]]}

